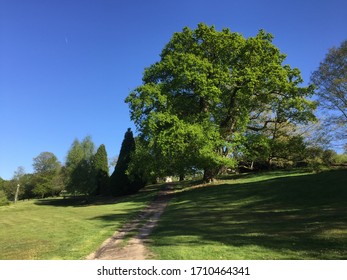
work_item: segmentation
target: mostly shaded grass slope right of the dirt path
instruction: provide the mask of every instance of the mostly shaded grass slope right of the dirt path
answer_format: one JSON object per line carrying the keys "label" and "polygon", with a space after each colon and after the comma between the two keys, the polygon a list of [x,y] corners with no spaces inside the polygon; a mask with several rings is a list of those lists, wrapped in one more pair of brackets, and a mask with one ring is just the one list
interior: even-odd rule
{"label": "mostly shaded grass slope right of the dirt path", "polygon": [[150,248],[156,259],[347,259],[347,170],[183,185]]}

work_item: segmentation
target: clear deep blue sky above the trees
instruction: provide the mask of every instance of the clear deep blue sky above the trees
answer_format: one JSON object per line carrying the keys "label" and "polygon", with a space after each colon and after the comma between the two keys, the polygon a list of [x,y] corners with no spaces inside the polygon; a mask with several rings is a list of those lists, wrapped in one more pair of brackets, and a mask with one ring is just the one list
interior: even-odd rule
{"label": "clear deep blue sky above the trees", "polygon": [[265,29],[308,82],[347,39],[346,11],[345,0],[0,0],[0,177],[32,172],[44,151],[64,163],[87,135],[117,155],[134,129],[125,97],[184,26]]}

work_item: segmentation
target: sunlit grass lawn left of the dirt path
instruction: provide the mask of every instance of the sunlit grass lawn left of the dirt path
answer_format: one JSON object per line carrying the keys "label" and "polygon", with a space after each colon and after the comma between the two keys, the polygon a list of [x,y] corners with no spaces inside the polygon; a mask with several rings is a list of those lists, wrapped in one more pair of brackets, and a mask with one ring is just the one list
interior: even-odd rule
{"label": "sunlit grass lawn left of the dirt path", "polygon": [[156,194],[118,199],[20,201],[0,207],[0,259],[83,259]]}

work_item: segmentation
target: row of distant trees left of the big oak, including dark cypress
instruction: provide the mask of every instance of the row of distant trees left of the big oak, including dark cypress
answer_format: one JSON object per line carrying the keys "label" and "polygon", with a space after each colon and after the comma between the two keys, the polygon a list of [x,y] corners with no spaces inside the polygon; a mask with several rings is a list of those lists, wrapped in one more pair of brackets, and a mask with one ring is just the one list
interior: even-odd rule
{"label": "row of distant trees left of the big oak, including dark cypress", "polygon": [[26,174],[24,168],[19,167],[12,180],[0,178],[0,205],[17,199],[136,193],[146,182],[141,181],[136,172],[128,172],[134,151],[135,140],[129,128],[111,177],[105,145],[95,151],[90,136],[73,141],[64,165],[53,153],[42,152],[33,159],[33,174]]}

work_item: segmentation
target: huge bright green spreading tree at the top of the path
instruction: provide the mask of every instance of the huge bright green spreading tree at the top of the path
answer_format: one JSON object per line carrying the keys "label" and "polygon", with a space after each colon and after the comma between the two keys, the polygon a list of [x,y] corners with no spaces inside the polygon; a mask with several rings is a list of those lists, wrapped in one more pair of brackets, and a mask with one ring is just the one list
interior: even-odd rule
{"label": "huge bright green spreading tree at the top of the path", "polygon": [[247,130],[314,118],[313,88],[300,87],[300,71],[283,65],[272,39],[263,30],[244,38],[199,24],[175,33],[146,68],[126,102],[156,160],[170,162],[168,172],[200,168],[210,181],[236,164]]}

